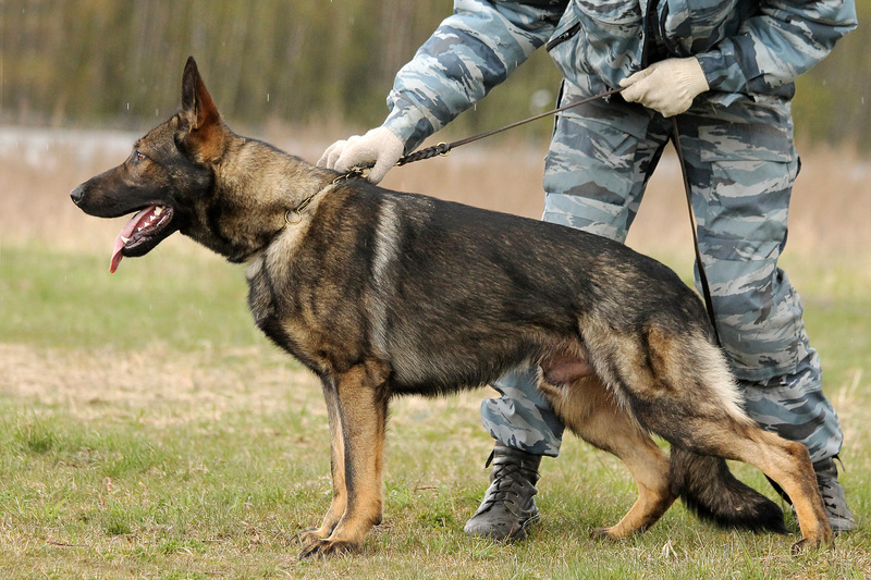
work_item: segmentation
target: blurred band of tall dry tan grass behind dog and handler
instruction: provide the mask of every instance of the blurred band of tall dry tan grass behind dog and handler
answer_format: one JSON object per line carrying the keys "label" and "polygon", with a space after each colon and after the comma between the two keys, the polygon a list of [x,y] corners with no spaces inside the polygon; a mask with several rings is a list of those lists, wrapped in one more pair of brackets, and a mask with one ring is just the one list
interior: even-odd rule
{"label": "blurred band of tall dry tan grass behind dog and handler", "polygon": [[[310,161],[341,132],[270,128],[265,138]],[[302,138],[295,136],[302,135]],[[0,242],[36,240],[106,251],[116,223],[84,218],[69,192],[122,161],[136,135],[0,128]],[[789,250],[801,256],[864,255],[871,243],[871,162],[849,151],[807,150],[793,195]],[[529,218],[541,215],[543,147],[499,141],[393,170],[383,185]],[[691,258],[679,169],[666,155],[629,235],[648,254]]]}

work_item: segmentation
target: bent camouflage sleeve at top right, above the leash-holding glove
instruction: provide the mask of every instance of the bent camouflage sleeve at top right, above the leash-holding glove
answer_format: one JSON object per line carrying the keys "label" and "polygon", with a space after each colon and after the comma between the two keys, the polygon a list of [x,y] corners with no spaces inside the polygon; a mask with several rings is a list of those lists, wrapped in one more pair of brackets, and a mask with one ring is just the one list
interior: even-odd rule
{"label": "bent camouflage sleeve at top right, above the leash-holding glove", "polygon": [[763,0],[737,35],[697,57],[714,90],[776,94],[856,25],[855,0]]}

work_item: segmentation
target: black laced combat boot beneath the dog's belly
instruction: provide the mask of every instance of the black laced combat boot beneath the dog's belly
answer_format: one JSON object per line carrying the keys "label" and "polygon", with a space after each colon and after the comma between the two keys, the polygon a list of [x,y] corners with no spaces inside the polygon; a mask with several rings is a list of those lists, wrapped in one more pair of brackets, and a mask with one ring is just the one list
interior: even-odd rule
{"label": "black laced combat boot beneath the dog's belly", "polygon": [[539,519],[535,495],[541,456],[496,442],[490,460],[490,488],[478,511],[466,522],[465,532],[498,541],[523,540],[529,526]]}

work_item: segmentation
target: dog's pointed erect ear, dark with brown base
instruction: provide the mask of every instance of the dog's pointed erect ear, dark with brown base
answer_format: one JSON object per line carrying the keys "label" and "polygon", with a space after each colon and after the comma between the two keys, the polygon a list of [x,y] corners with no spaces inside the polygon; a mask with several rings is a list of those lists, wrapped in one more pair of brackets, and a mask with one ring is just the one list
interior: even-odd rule
{"label": "dog's pointed erect ear, dark with brown base", "polygon": [[206,89],[194,57],[187,58],[182,75],[181,118],[188,132],[185,141],[194,146],[204,160],[214,160],[222,150],[221,113]]}

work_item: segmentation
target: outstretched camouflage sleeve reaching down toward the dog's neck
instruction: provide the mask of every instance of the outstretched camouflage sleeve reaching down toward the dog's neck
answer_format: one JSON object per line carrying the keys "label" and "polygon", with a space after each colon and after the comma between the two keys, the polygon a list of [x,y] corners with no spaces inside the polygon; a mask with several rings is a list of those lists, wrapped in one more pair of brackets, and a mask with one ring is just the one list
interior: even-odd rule
{"label": "outstretched camouflage sleeve reaching down toward the dog's neck", "polygon": [[384,126],[406,151],[417,148],[548,40],[565,10],[551,4],[455,0],[453,15],[397,73]]}

